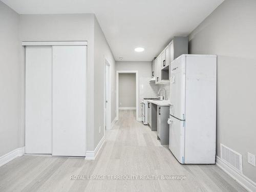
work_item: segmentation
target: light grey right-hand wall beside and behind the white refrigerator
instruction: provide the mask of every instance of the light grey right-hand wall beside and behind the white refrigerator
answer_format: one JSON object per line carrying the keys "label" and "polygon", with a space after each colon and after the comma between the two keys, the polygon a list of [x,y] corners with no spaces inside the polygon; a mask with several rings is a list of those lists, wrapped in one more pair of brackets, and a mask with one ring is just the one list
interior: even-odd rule
{"label": "light grey right-hand wall beside and behind the white refrigerator", "polygon": [[189,53],[217,54],[217,155],[220,143],[243,155],[243,174],[256,182],[256,1],[226,0],[190,35]]}

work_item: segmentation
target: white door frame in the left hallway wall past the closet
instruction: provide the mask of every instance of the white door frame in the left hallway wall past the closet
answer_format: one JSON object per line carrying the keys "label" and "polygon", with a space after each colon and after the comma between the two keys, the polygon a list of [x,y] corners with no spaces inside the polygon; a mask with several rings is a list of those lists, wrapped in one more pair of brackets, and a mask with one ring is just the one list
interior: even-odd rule
{"label": "white door frame in the left hallway wall past the closet", "polygon": [[[108,96],[106,96],[106,69],[108,67],[109,70],[109,91],[108,91]],[[109,59],[107,59],[106,57],[104,57],[104,135],[105,135],[105,130],[111,130],[111,109],[112,109],[112,104],[111,104],[111,63],[109,61]],[[105,112],[105,107],[106,107],[106,100],[108,100],[109,103],[109,108],[106,109],[107,113]],[[107,117],[106,117],[107,114]],[[106,119],[108,118],[108,120]],[[108,123],[107,123],[108,122]]]}

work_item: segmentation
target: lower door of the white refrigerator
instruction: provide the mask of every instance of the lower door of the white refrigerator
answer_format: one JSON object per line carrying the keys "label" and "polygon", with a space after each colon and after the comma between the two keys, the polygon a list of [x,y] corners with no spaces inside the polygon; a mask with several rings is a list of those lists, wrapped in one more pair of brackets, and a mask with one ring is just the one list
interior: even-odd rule
{"label": "lower door of the white refrigerator", "polygon": [[184,163],[184,121],[169,116],[169,149],[180,163]]}

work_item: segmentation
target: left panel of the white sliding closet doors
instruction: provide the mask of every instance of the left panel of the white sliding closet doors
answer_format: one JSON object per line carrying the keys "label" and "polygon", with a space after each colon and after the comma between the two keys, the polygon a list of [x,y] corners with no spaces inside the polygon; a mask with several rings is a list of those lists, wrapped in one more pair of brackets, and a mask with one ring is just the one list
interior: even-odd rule
{"label": "left panel of the white sliding closet doors", "polygon": [[52,153],[52,47],[26,47],[25,153]]}

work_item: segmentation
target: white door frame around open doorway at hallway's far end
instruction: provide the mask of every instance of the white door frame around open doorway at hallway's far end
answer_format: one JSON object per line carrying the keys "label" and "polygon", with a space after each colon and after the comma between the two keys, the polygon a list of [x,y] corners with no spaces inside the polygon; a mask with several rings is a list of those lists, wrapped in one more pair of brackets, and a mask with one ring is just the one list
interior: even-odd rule
{"label": "white door frame around open doorway at hallway's far end", "polygon": [[119,119],[119,73],[135,73],[136,75],[136,120],[139,121],[139,81],[138,71],[116,71],[116,120]]}

